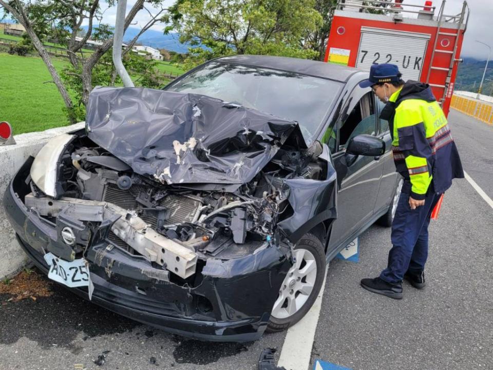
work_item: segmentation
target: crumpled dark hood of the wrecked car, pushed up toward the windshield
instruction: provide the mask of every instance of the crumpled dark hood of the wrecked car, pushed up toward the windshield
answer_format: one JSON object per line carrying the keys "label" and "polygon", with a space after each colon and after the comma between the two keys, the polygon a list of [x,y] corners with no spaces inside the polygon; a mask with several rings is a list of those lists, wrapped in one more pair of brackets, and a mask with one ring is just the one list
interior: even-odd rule
{"label": "crumpled dark hood of the wrecked car, pushed up toward the windshield", "polygon": [[218,99],[149,88],[96,87],[88,137],[162,183],[249,182],[282,144],[307,145],[297,122]]}

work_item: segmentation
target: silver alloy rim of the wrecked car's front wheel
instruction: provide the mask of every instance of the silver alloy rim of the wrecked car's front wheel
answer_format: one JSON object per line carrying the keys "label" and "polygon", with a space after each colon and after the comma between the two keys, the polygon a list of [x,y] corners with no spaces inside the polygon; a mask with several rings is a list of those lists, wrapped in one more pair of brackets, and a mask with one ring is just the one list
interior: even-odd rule
{"label": "silver alloy rim of the wrecked car's front wheel", "polygon": [[276,319],[286,319],[305,305],[315,286],[317,264],[315,256],[306,249],[294,251],[296,262],[288,271],[279,289],[271,315]]}

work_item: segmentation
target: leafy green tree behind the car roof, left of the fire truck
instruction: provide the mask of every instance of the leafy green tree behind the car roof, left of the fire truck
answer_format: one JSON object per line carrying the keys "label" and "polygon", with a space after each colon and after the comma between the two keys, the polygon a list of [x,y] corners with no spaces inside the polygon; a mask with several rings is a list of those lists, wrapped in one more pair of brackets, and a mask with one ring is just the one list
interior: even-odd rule
{"label": "leafy green tree behind the car roof, left of the fire truck", "polygon": [[166,16],[180,42],[189,43],[185,67],[227,54],[313,58],[305,36],[322,17],[315,0],[179,0]]}

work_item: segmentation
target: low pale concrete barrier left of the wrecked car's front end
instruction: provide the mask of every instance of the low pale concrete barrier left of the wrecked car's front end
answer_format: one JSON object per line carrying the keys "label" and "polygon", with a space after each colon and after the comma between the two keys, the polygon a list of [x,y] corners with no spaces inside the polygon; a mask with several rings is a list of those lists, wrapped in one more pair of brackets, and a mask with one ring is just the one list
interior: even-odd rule
{"label": "low pale concrete barrier left of the wrecked car's front end", "polygon": [[[29,156],[35,156],[52,137],[84,127],[84,122],[50,130],[15,135],[15,145],[0,146],[0,200],[9,181]],[[28,263],[18,245],[3,207],[0,207],[0,279],[10,277]]]}

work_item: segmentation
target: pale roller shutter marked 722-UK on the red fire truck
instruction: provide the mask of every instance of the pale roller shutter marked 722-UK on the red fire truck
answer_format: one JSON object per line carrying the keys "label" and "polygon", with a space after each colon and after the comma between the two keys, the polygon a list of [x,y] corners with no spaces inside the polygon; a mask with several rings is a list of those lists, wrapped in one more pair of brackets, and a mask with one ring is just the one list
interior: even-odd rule
{"label": "pale roller shutter marked 722-UK on the red fire truck", "polygon": [[403,80],[420,81],[426,48],[431,35],[361,27],[356,67],[370,70],[373,63],[399,66]]}

